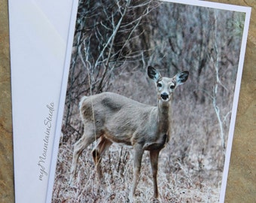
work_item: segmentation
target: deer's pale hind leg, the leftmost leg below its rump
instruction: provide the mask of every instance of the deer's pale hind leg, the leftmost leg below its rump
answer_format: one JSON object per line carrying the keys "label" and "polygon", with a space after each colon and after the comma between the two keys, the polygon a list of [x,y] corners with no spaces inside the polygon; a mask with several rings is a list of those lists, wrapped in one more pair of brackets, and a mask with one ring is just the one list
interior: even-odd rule
{"label": "deer's pale hind leg, the leftmost leg below its rump", "polygon": [[87,128],[84,128],[84,131],[85,131],[84,135],[74,145],[69,185],[71,185],[75,179],[79,156],[81,155],[81,153],[84,151],[85,148],[87,148],[90,144],[93,143],[93,141],[95,141],[100,136],[99,135],[98,137],[96,137],[94,130],[93,131],[86,131],[86,130]]}

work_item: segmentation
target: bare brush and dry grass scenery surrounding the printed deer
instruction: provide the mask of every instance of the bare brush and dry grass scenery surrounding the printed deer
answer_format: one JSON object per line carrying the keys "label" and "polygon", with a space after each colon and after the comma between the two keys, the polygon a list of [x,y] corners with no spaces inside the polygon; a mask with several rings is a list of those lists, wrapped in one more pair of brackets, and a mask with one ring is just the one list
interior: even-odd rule
{"label": "bare brush and dry grass scenery surrounding the printed deer", "polygon": [[[78,162],[77,188],[68,186],[73,145],[83,133],[78,102],[83,95],[111,91],[156,105],[148,65],[169,77],[190,71],[175,91],[172,139],[160,153],[160,201],[217,202],[244,17],[157,1],[80,1],[53,202],[127,201],[133,157],[126,147],[105,153],[104,191],[98,189],[93,146]],[[151,201],[152,194],[145,153],[137,201]]]}

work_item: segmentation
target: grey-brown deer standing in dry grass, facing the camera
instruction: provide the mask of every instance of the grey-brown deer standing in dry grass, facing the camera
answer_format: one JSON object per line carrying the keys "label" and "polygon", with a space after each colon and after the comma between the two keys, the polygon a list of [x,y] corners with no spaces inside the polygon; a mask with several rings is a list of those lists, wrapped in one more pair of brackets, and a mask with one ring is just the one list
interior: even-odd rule
{"label": "grey-brown deer standing in dry grass, facing the camera", "polygon": [[148,76],[157,86],[157,106],[144,105],[130,98],[112,92],[84,97],[80,102],[80,113],[84,123],[84,135],[75,143],[70,182],[75,178],[78,157],[93,141],[99,139],[93,149],[93,160],[99,180],[102,171],[99,166],[102,154],[113,142],[133,147],[134,195],[142,163],[142,155],[149,150],[154,180],[154,198],[158,197],[157,165],[160,150],[169,141],[171,132],[171,102],[174,90],[187,80],[188,71],[175,77],[162,77],[155,68],[148,67]]}

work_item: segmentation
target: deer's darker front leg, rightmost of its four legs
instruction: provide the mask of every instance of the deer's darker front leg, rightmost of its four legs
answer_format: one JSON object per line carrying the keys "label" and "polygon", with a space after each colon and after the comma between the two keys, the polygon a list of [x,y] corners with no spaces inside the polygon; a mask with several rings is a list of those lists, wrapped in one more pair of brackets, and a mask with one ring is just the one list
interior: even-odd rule
{"label": "deer's darker front leg, rightmost of its four legs", "polygon": [[154,198],[158,197],[158,189],[157,189],[157,169],[158,169],[158,156],[160,150],[152,150],[150,151],[151,158],[151,170],[153,174],[153,183],[154,183]]}

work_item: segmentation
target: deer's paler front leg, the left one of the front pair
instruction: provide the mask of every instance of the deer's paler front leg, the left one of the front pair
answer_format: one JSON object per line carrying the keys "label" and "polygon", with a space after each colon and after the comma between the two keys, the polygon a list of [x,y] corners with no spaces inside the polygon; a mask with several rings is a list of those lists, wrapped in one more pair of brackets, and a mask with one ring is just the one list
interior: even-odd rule
{"label": "deer's paler front leg, the left one of the front pair", "polygon": [[136,146],[133,147],[133,187],[130,193],[130,198],[133,198],[135,194],[136,186],[138,184],[139,173],[141,171],[141,166],[142,166],[143,152],[144,150],[142,149],[141,145],[136,144]]}

